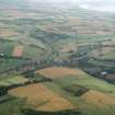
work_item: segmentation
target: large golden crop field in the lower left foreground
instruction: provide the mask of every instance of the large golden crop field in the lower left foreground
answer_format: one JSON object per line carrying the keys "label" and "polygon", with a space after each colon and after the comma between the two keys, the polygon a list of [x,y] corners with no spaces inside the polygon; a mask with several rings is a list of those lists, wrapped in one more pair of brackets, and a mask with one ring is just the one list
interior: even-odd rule
{"label": "large golden crop field in the lower left foreground", "polygon": [[10,90],[9,94],[25,97],[27,104],[35,106],[37,111],[55,112],[74,108],[69,101],[54,93],[42,83],[16,88]]}

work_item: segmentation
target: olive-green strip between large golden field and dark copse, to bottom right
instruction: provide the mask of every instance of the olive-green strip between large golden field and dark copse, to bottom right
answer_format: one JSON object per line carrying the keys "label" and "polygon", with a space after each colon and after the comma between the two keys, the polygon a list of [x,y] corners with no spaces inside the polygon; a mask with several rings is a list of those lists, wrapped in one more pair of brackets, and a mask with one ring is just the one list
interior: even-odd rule
{"label": "olive-green strip between large golden field and dark copse, to bottom right", "polygon": [[[65,99],[68,99],[72,104],[78,105],[80,112],[85,115],[114,115],[115,106],[99,106],[95,105],[94,102],[85,102],[82,97],[73,96],[71,93],[64,91],[60,84],[56,83],[45,83],[48,88],[50,88],[54,92],[61,94]],[[79,84],[79,83],[78,83]],[[102,84],[103,85],[103,84]]]}

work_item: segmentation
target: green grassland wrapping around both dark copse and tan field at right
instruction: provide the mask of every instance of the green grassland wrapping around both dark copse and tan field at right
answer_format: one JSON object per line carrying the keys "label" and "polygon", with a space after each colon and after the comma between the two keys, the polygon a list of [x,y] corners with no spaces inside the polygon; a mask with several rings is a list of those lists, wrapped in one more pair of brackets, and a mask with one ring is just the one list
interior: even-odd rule
{"label": "green grassland wrapping around both dark copse and tan field at right", "polygon": [[92,77],[85,76],[76,76],[76,77],[67,77],[55,79],[54,83],[45,83],[48,88],[50,88],[54,92],[61,94],[64,97],[70,100],[73,104],[79,106],[79,110],[87,115],[114,115],[115,106],[99,106],[91,103],[87,103],[80,96],[74,96],[71,93],[67,92],[65,88],[70,87],[71,84],[82,85],[90,90],[95,90],[99,92],[103,92],[107,95],[115,97],[115,87],[106,83],[100,79],[95,79]]}

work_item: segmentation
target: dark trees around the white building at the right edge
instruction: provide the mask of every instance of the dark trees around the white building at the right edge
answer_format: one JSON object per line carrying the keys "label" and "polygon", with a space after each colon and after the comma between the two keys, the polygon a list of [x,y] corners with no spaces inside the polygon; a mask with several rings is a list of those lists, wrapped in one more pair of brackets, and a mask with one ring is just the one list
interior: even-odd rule
{"label": "dark trees around the white building at the right edge", "polygon": [[[96,58],[92,58],[92,59],[101,61],[101,62],[108,62],[108,64],[115,62],[115,60],[107,60],[107,59],[104,60],[104,59],[96,59]],[[89,62],[88,60],[85,60],[85,61],[82,60],[80,62],[80,67],[88,74],[103,79],[103,80],[111,82],[111,83],[115,82],[115,79],[113,76],[113,74],[115,74],[115,67],[114,66],[111,66],[111,67],[110,66],[103,66],[103,65],[101,66],[101,65]]]}

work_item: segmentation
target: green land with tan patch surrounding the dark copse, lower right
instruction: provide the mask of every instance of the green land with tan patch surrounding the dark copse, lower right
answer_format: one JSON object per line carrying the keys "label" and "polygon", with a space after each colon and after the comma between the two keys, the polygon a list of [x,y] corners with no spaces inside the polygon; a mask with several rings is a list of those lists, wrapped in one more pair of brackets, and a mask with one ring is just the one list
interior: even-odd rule
{"label": "green land with tan patch surrounding the dark copse, lower right", "polygon": [[[88,94],[85,93],[81,97],[74,96],[70,92],[67,92],[65,90],[72,84],[82,85],[87,89],[90,89],[91,91],[89,91]],[[84,72],[81,72],[81,76],[76,74],[67,77],[61,76],[61,78],[57,77],[54,79],[53,83],[45,83],[45,85],[47,85],[54,92],[57,92],[64,97],[70,100],[71,103],[78,105],[79,110],[87,115],[114,115],[115,87],[105,81],[92,78]],[[85,95],[88,95],[87,100],[90,101],[85,100]],[[96,95],[96,99],[93,97],[94,95]],[[99,106],[99,104],[95,104],[95,102],[99,103],[101,106]]]}

